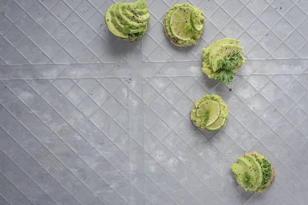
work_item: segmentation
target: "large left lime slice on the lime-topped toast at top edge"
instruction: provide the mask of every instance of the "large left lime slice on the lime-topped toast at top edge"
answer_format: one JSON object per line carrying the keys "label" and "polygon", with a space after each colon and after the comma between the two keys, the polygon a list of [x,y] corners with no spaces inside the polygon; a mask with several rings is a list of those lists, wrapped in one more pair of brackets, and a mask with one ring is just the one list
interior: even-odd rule
{"label": "large left lime slice on the lime-topped toast at top edge", "polygon": [[190,40],[190,7],[180,7],[175,10],[170,18],[170,28],[172,34],[181,40]]}

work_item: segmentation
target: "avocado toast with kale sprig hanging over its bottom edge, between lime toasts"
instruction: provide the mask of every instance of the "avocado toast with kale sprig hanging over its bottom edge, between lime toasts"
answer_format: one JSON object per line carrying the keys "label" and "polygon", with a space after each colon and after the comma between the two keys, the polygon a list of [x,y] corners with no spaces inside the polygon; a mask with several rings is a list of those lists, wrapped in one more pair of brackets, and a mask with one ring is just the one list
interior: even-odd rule
{"label": "avocado toast with kale sprig hanging over its bottom edge, between lime toasts", "polygon": [[223,38],[202,49],[202,72],[221,83],[231,83],[245,63],[241,52],[243,47],[237,45],[239,42],[234,38]]}

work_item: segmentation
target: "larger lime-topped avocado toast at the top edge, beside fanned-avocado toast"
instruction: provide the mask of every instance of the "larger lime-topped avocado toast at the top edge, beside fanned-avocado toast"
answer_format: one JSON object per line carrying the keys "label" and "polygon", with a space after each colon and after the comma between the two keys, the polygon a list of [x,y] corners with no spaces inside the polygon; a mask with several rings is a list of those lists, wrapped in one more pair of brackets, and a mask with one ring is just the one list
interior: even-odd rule
{"label": "larger lime-topped avocado toast at the top edge, beside fanned-avocado toast", "polygon": [[204,29],[203,12],[188,3],[174,5],[166,12],[163,26],[172,44],[195,45]]}

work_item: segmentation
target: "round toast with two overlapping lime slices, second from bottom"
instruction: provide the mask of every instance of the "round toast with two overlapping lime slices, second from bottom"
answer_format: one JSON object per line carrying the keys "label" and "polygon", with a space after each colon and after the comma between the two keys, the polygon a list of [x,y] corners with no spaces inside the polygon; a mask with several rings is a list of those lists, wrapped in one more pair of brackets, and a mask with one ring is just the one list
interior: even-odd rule
{"label": "round toast with two overlapping lime slices, second from bottom", "polygon": [[216,131],[226,125],[228,107],[218,95],[204,95],[190,112],[192,123],[200,130]]}

